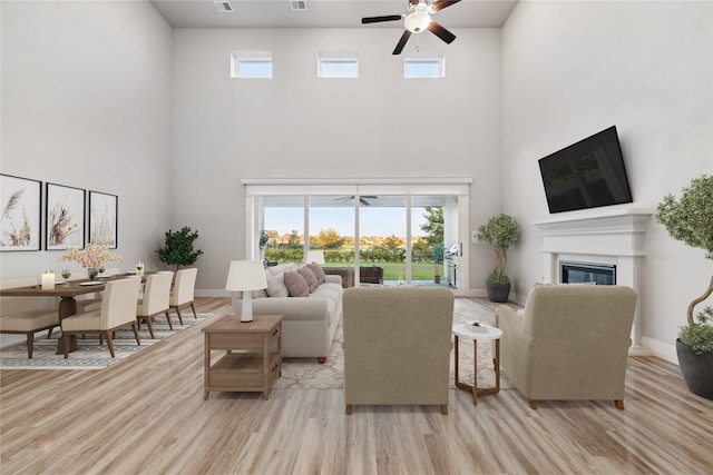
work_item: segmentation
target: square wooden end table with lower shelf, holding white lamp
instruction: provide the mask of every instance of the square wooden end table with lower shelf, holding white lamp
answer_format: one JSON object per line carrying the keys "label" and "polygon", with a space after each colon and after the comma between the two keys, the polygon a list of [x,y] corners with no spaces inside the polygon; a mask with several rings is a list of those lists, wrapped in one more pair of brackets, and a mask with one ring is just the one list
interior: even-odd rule
{"label": "square wooden end table with lower shelf, holding white lamp", "polygon": [[[254,315],[241,321],[226,315],[203,328],[205,369],[203,398],[212,390],[262,392],[267,399],[272,383],[282,376],[282,315]],[[212,362],[212,352],[225,350]]]}

